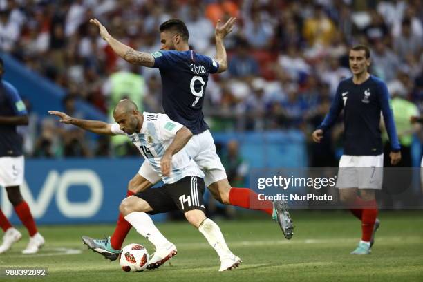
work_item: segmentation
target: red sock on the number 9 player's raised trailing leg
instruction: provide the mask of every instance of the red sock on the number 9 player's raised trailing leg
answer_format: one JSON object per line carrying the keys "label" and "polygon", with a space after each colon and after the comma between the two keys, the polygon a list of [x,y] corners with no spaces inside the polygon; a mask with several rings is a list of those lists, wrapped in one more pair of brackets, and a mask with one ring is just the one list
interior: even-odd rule
{"label": "red sock on the number 9 player's raised trailing leg", "polygon": [[259,194],[248,188],[232,187],[229,191],[229,203],[245,209],[256,209],[272,215],[273,203],[270,200],[259,200]]}

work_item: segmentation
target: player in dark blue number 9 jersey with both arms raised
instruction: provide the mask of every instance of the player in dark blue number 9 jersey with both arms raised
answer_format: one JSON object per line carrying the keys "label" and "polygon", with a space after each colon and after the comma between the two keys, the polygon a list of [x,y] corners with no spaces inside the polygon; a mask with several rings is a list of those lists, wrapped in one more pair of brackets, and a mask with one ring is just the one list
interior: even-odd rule
{"label": "player in dark blue number 9 jersey with both arms raised", "polygon": [[[106,28],[91,19],[100,29],[100,36],[114,52],[131,64],[159,68],[162,77],[164,112],[171,120],[187,126],[194,133],[186,148],[205,173],[205,185],[220,203],[261,209],[277,219],[286,238],[292,237],[292,220],[283,202],[260,201],[251,189],[233,188],[229,184],[225,169],[216,154],[216,147],[209,126],[204,121],[203,101],[208,76],[227,69],[227,55],[223,39],[234,29],[236,19],[231,17],[226,23],[218,21],[215,30],[216,57],[211,59],[189,49],[189,32],[185,23],[179,19],[169,19],[160,25],[161,50],[144,53],[122,44],[114,39]],[[142,191],[158,182],[160,177],[147,162],[129,182],[128,195]],[[117,257],[120,247],[131,225],[122,215],[110,240],[110,252]],[[103,252],[102,254],[105,254]],[[110,258],[110,257],[109,257]]]}

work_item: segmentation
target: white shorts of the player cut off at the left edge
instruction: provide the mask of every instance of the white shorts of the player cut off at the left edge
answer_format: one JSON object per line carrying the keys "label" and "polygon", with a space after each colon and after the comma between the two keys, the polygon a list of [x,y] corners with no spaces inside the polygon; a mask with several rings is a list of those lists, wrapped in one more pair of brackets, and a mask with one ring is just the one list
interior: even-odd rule
{"label": "white shorts of the player cut off at the left edge", "polygon": [[0,157],[0,186],[20,186],[23,183],[24,159],[19,157]]}

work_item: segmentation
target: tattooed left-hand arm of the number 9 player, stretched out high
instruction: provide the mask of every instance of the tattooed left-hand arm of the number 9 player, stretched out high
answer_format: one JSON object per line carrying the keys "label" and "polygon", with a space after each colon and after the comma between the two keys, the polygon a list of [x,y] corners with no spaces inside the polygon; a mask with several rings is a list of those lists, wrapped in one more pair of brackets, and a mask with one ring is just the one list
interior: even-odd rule
{"label": "tattooed left-hand arm of the number 9 player, stretched out high", "polygon": [[107,44],[111,46],[113,51],[126,62],[139,66],[148,66],[149,68],[154,66],[154,57],[150,53],[133,50],[133,48],[114,39],[97,19],[90,19],[90,23],[95,24],[95,26],[100,29],[100,36],[102,39],[104,39]]}

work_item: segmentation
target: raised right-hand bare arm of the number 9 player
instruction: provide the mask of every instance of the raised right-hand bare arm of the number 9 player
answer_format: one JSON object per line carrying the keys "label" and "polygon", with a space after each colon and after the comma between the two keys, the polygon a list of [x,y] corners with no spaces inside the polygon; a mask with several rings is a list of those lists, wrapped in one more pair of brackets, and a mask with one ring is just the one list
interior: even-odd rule
{"label": "raised right-hand bare arm of the number 9 player", "polygon": [[225,45],[223,45],[223,39],[228,35],[232,30],[234,30],[236,17],[231,17],[227,20],[224,25],[220,24],[220,19],[216,24],[214,30],[214,38],[216,39],[216,62],[219,63],[218,73],[222,73],[227,70],[227,56]]}

